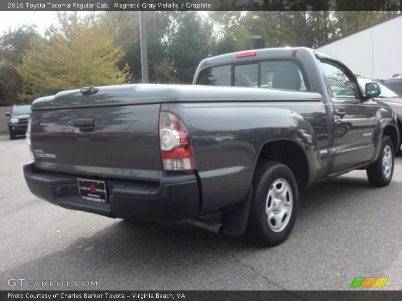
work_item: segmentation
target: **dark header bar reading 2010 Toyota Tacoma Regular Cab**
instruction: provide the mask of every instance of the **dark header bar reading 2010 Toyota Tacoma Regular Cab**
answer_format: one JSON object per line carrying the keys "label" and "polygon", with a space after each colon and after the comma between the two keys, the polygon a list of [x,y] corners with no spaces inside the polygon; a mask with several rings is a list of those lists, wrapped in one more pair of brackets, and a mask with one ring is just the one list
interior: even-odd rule
{"label": "dark header bar reading 2010 Toyota Tacoma Regular Cab", "polygon": [[0,11],[400,11],[402,0],[2,0]]}

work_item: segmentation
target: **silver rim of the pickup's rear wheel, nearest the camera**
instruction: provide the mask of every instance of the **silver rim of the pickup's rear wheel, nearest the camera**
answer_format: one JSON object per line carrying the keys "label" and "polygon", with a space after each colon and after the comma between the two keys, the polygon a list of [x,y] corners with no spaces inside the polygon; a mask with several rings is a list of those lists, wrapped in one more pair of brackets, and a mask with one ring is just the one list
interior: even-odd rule
{"label": "silver rim of the pickup's rear wheel, nearest the camera", "polygon": [[290,220],[293,208],[293,194],[289,182],[277,179],[268,191],[265,213],[269,228],[274,232],[282,231]]}

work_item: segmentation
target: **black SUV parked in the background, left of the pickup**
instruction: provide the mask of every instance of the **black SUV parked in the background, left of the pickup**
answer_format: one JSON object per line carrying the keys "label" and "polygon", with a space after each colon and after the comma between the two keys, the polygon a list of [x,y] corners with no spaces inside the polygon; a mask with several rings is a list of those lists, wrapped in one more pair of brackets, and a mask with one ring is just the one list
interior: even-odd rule
{"label": "black SUV parked in the background, left of the pickup", "polygon": [[11,113],[6,113],[6,116],[10,116],[9,130],[11,140],[15,139],[17,135],[25,135],[30,115],[31,105],[26,103],[15,104]]}

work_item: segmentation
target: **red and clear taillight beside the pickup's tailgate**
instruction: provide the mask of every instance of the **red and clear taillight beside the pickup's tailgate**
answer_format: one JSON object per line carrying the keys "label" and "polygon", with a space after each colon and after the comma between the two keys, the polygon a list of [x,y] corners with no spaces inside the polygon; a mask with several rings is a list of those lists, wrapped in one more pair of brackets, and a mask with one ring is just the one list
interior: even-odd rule
{"label": "red and clear taillight beside the pickup's tailgate", "polygon": [[165,171],[195,169],[194,151],[184,123],[175,114],[161,112],[159,118],[160,152]]}

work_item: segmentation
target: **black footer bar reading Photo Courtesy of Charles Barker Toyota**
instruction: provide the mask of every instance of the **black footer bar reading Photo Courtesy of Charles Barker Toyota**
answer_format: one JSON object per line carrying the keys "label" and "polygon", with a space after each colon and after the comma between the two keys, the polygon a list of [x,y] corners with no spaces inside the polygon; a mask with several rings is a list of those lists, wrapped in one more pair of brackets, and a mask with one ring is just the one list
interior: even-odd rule
{"label": "black footer bar reading Photo Courtesy of Charles Barker Toyota", "polygon": [[278,300],[402,300],[402,291],[389,290],[21,290],[0,291],[4,301],[278,301]]}

